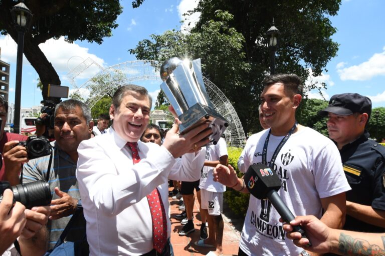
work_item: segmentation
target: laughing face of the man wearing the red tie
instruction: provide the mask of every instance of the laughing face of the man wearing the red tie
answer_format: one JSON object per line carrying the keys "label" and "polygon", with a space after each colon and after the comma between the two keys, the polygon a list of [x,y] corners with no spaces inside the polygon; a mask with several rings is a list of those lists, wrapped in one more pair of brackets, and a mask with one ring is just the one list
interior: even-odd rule
{"label": "laughing face of the man wearing the red tie", "polygon": [[150,120],[150,101],[147,95],[134,91],[126,92],[119,108],[112,104],[110,117],[112,127],[128,142],[136,142],[142,136]]}

